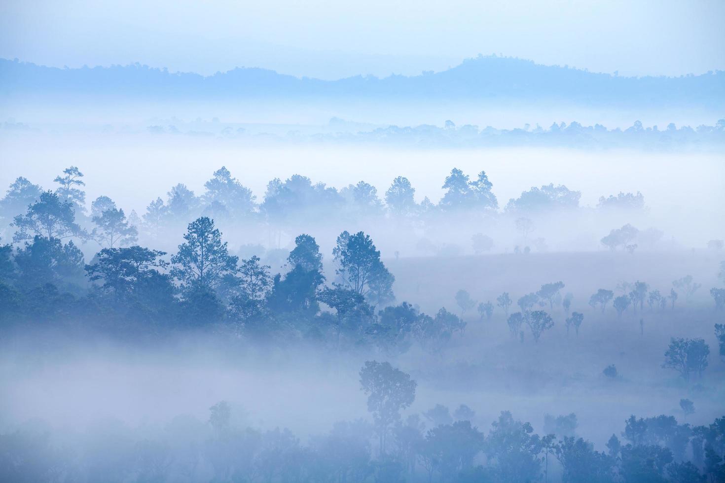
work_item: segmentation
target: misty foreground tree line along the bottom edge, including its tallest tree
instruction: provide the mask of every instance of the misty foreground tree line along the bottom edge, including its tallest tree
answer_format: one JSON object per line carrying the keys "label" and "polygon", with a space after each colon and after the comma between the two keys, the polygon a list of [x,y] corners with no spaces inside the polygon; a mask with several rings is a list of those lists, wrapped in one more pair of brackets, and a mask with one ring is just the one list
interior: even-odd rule
{"label": "misty foreground tree line along the bottom edge, including its tallest tree", "polygon": [[[149,431],[107,422],[59,445],[41,428],[0,434],[0,479],[22,482],[722,482],[725,417],[709,425],[631,416],[605,450],[580,437],[576,414],[529,422],[502,411],[488,432],[461,404],[402,412],[417,382],[387,362],[360,370],[372,423],[339,421],[303,443],[289,429],[235,421],[229,403],[206,422],[178,416]],[[681,400],[684,418],[695,411]],[[55,436],[55,435],[52,435]],[[56,436],[57,438],[57,436]]]}

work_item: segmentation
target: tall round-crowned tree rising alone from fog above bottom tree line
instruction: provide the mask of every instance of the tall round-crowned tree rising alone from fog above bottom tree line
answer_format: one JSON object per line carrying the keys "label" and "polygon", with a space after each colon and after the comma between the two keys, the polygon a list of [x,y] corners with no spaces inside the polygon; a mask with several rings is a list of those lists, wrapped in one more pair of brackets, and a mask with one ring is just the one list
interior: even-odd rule
{"label": "tall round-crowned tree rising alone from fog above bottom tree line", "polygon": [[409,374],[388,362],[367,361],[360,369],[360,385],[368,395],[368,411],[378,432],[381,453],[385,453],[386,436],[400,411],[413,404],[417,383]]}

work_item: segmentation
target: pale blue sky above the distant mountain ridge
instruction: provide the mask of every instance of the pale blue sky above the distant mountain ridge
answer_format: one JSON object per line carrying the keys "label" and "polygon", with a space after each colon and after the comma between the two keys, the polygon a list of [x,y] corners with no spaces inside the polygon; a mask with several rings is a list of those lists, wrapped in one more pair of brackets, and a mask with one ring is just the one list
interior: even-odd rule
{"label": "pale blue sky above the distant mountain ridge", "polygon": [[504,54],[620,75],[725,70],[725,1],[0,2],[0,56],[336,78]]}

